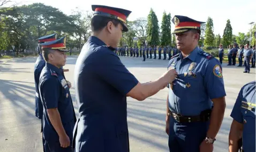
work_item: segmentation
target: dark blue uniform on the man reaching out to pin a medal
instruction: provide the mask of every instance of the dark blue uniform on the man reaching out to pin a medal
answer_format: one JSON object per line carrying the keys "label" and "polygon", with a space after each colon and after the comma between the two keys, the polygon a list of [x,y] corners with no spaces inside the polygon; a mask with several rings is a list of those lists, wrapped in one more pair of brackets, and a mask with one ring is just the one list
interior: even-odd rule
{"label": "dark blue uniform on the man reaching out to pin a medal", "polygon": [[111,47],[89,37],[74,70],[80,114],[74,130],[76,151],[129,151],[126,94],[137,83]]}

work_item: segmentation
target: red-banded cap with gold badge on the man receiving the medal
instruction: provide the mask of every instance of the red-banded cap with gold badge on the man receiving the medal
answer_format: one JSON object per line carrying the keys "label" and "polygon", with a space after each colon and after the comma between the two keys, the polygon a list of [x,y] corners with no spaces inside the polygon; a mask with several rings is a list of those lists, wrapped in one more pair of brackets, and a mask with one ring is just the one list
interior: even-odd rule
{"label": "red-banded cap with gold badge on the man receiving the medal", "polygon": [[172,34],[187,32],[191,29],[197,29],[200,32],[201,24],[205,23],[186,16],[174,16],[171,21],[175,24],[175,29]]}

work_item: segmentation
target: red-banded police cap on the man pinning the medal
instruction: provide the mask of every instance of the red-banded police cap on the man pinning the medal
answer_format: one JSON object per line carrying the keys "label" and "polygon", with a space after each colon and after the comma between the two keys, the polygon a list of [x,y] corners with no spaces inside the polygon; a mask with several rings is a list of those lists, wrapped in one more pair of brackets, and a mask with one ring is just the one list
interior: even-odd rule
{"label": "red-banded police cap on the man pinning the medal", "polygon": [[123,32],[128,31],[126,19],[130,15],[131,11],[104,5],[92,5],[92,10],[94,11],[93,16],[104,16],[116,19],[123,25]]}

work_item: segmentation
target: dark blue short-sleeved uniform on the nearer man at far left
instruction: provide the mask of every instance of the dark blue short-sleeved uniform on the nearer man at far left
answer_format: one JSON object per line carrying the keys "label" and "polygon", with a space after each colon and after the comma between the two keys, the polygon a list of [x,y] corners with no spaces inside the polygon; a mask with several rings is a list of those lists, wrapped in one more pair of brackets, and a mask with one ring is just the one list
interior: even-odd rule
{"label": "dark blue short-sleeved uniform on the nearer man at far left", "polygon": [[57,108],[64,130],[72,141],[76,116],[63,70],[46,63],[40,75],[39,92],[43,103],[43,138],[48,142],[59,141],[47,113],[47,109]]}

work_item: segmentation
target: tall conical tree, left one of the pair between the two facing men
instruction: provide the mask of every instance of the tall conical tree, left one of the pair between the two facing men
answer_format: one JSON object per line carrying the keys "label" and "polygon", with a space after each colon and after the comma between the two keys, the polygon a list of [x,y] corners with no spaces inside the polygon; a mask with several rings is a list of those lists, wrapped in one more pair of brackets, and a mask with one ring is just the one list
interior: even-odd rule
{"label": "tall conical tree, left one of the pair between the two facing men", "polygon": [[150,9],[147,22],[147,43],[148,45],[159,45],[159,25],[153,9]]}

